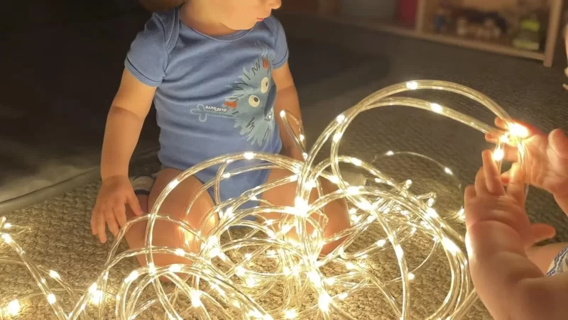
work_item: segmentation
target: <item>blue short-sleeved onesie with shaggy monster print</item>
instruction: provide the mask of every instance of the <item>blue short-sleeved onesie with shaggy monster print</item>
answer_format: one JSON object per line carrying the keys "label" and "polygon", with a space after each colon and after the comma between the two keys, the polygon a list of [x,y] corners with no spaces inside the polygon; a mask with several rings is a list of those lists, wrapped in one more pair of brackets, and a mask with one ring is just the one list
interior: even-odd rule
{"label": "blue short-sleeved onesie with shaggy monster print", "polygon": [[[280,153],[272,71],[287,60],[283,28],[272,16],[251,30],[211,37],[185,26],[180,8],[154,13],[133,41],[125,65],[138,80],[157,87],[163,167],[187,170],[227,153]],[[235,162],[228,170],[250,164]],[[207,182],[217,169],[196,177]],[[268,173],[224,180],[221,200],[263,184]],[[212,194],[212,188],[208,191]]]}

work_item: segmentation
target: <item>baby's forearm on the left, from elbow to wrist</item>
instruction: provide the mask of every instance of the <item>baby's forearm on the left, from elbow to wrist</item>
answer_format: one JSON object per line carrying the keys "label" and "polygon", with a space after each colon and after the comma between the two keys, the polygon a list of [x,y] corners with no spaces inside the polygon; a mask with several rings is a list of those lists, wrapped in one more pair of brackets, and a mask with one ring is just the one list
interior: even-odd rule
{"label": "baby's forearm on the left, from elbow to wrist", "polygon": [[129,163],[140,138],[144,118],[132,111],[112,106],[104,131],[101,156],[101,178],[128,176]]}

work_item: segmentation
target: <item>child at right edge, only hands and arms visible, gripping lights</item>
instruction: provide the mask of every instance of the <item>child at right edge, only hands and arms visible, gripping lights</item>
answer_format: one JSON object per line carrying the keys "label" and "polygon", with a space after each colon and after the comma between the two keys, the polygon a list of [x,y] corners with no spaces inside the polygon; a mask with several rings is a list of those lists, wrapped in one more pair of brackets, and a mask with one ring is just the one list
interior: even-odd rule
{"label": "child at right edge, only hands and arms visible, gripping lights", "polygon": [[[505,128],[501,120],[496,124]],[[567,243],[533,246],[554,237],[555,229],[530,224],[524,189],[526,182],[545,189],[568,214],[568,138],[559,129],[549,135],[529,131],[525,165],[514,163],[501,176],[491,152],[484,152],[484,166],[464,196],[471,278],[496,320],[555,320],[568,314]]]}

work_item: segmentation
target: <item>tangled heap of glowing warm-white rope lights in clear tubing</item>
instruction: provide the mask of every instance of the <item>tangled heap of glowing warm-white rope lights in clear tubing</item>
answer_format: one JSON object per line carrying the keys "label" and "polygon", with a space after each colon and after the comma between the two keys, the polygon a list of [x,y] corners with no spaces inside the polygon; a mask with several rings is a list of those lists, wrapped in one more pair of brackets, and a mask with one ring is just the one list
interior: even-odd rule
{"label": "tangled heap of glowing warm-white rope lights in clear tubing", "polygon": [[[506,120],[508,130],[501,131],[493,128],[475,118],[439,104],[420,99],[391,97],[400,92],[416,89],[437,89],[467,96],[486,106],[496,116]],[[501,136],[493,153],[498,166],[501,168],[505,144],[517,146],[520,161],[523,161],[522,138],[525,133],[522,129],[515,126],[508,114],[487,96],[451,82],[433,80],[405,82],[371,94],[356,106],[337,116],[309,152],[305,149],[304,134],[300,131],[296,135],[290,126],[290,120],[295,121],[296,124],[300,124],[299,121],[283,112],[280,116],[289,133],[292,133],[297,147],[302,150],[305,162],[291,160],[281,155],[241,153],[207,160],[182,172],[165,187],[151,209],[151,214],[138,216],[127,222],[121,229],[109,252],[104,270],[88,288],[72,287],[57,272],[33,263],[23,248],[14,241],[14,238],[26,231],[26,228],[13,226],[6,222],[5,217],[1,217],[1,238],[16,252],[19,259],[0,257],[0,262],[26,267],[37,282],[39,292],[11,301],[0,300],[0,306],[4,306],[0,307],[0,318],[18,314],[23,301],[43,296],[58,319],[85,319],[89,301],[95,302],[94,307],[98,309],[96,317],[107,319],[111,315],[105,313],[105,306],[113,299],[115,307],[112,316],[116,319],[134,319],[155,306],[163,308],[167,319],[184,319],[187,316],[212,319],[212,314],[222,319],[234,319],[235,316],[242,319],[263,320],[312,319],[314,317],[354,319],[340,307],[340,302],[363,289],[373,288],[383,295],[387,302],[386,306],[392,309],[395,316],[408,319],[412,298],[409,290],[410,281],[420,275],[434,253],[441,248],[448,260],[451,283],[442,304],[425,319],[459,319],[476,300],[476,294],[469,278],[466,255],[460,248],[464,238],[450,224],[452,219],[459,219],[463,215],[463,209],[443,219],[432,208],[436,199],[434,192],[413,194],[410,192],[412,184],[410,180],[395,181],[369,163],[339,155],[339,142],[351,121],[361,112],[382,106],[412,106],[425,109],[464,123],[482,133],[496,134]],[[317,153],[328,140],[331,140],[329,158],[316,163]],[[236,161],[249,161],[251,165],[227,170],[229,164]],[[349,184],[340,170],[341,163],[363,170],[366,176],[372,177],[371,182],[373,183]],[[189,199],[185,210],[187,216],[197,198],[210,187],[214,188],[215,205],[207,214],[203,224],[214,215],[219,216],[219,223],[208,236],[192,228],[185,222],[185,219],[177,220],[159,214],[164,200],[180,182],[201,170],[215,166],[219,167],[217,176],[204,183],[203,187]],[[224,180],[245,172],[272,168],[283,168],[288,170],[290,175],[244,192],[241,197],[220,201],[219,189]],[[449,175],[452,174],[447,167],[445,171]],[[337,184],[337,191],[323,194],[320,179]],[[268,189],[290,182],[297,183],[294,206],[275,206],[261,199],[261,194]],[[314,189],[317,190],[319,197],[315,202],[309,203],[308,199]],[[323,208],[337,199],[346,199],[349,203],[352,224],[332,238],[325,239],[323,231],[327,225],[327,217],[324,215]],[[239,209],[242,204],[250,200],[258,201],[259,205],[250,209]],[[263,214],[266,213],[279,213],[282,219],[279,221],[263,219]],[[245,219],[251,216],[256,220]],[[153,228],[158,220],[176,224],[187,234],[195,237],[202,243],[199,252],[192,253],[183,248],[152,245]],[[117,253],[119,243],[126,231],[133,224],[141,221],[148,222],[145,247]],[[234,227],[236,226],[245,227],[241,236],[235,236]],[[386,237],[376,239],[366,248],[348,252],[352,244],[371,226],[378,226]],[[285,236],[293,228],[297,231],[298,243],[289,241]],[[310,228],[312,231],[308,232]],[[420,265],[409,270],[401,244],[418,233],[433,239],[432,249]],[[227,235],[228,240],[222,241],[222,235]],[[341,245],[327,255],[320,255],[326,243],[339,239],[343,241]],[[393,279],[381,280],[366,269],[365,261],[378,257],[387,250],[394,251],[400,273]],[[191,264],[158,267],[154,264],[153,255],[155,254],[177,255],[189,260]],[[111,271],[121,260],[136,255],[144,255],[148,265],[132,270],[116,293],[111,294],[107,289]],[[261,260],[271,261],[272,269],[256,270],[259,265],[258,261]],[[349,271],[328,277],[322,272],[322,267],[328,264],[343,265]],[[56,280],[60,288],[48,285],[45,281],[46,277]],[[161,277],[168,278],[175,287],[165,289],[163,283],[160,282]],[[397,285],[402,289],[401,304],[389,289],[392,285]],[[154,289],[153,297],[143,295],[149,286]],[[266,309],[260,301],[271,290],[281,292],[283,302],[274,309]],[[338,290],[341,293],[332,293]],[[67,299],[72,302],[72,310],[63,309],[58,299],[60,294],[67,294]],[[302,304],[309,299],[310,294],[313,294],[317,302],[310,307],[305,307]],[[180,307],[182,300],[186,298],[190,304]]]}

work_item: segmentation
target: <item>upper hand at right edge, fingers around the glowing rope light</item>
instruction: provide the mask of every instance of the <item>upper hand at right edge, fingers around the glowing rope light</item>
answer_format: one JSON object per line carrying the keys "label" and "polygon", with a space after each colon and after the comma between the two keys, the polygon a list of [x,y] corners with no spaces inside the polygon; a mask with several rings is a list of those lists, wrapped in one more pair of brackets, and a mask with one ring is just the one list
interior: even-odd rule
{"label": "upper hand at right edge, fingers around the glowing rope light", "polygon": [[[502,119],[497,118],[495,124],[506,130],[506,123]],[[528,138],[525,140],[527,153],[523,165],[525,182],[545,189],[557,200],[568,198],[568,138],[560,129],[547,136],[525,123],[519,124],[528,129]],[[498,137],[488,134],[486,139],[495,143]],[[508,146],[505,151],[505,160],[517,161],[516,148]],[[508,179],[508,174],[503,175],[503,182],[508,183]]]}

